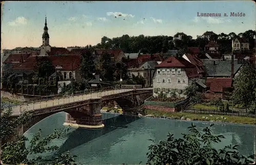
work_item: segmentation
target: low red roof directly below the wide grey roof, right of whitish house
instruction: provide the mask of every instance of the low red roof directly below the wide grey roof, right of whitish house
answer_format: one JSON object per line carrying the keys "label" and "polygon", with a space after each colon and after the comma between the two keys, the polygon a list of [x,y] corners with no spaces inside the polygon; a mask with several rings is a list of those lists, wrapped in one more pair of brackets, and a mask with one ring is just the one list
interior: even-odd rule
{"label": "low red roof directly below the wide grey roof, right of whitish house", "polygon": [[232,78],[207,78],[206,86],[210,87],[211,91],[222,92],[224,87],[232,86]]}

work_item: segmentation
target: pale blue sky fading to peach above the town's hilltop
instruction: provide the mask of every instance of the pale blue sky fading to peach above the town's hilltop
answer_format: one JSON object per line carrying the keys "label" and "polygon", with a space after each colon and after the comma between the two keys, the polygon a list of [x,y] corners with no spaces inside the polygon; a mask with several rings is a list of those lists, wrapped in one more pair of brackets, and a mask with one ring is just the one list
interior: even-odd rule
{"label": "pale blue sky fading to peach above the town's hilltop", "polygon": [[[125,34],[183,32],[196,38],[205,31],[243,33],[255,30],[255,7],[253,1],[4,2],[1,48],[39,47],[46,16],[50,45],[67,47],[95,45],[103,36]],[[245,16],[230,16],[230,12]],[[201,17],[200,13],[221,16]]]}

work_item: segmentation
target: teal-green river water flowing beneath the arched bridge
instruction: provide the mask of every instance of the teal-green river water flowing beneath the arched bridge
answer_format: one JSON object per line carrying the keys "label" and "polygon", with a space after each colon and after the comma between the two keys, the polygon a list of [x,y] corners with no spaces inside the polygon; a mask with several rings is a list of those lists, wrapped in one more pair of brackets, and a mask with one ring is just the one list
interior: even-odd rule
{"label": "teal-green river water flowing beneath the arched bridge", "polygon": [[[138,164],[140,161],[145,164],[147,147],[152,143],[148,139],[166,139],[168,132],[174,133],[176,138],[181,137],[181,133],[188,133],[187,127],[191,126],[188,121],[139,118],[117,113],[103,112],[102,117],[105,124],[103,129],[72,129],[65,138],[53,142],[60,149],[55,153],[44,154],[44,161],[51,160],[56,153],[70,150],[72,155],[78,156],[78,164]],[[46,136],[54,129],[64,128],[64,121],[65,112],[56,113],[34,125],[25,136],[31,139],[39,128],[42,129],[42,136]],[[210,125],[209,122],[193,123],[198,128]],[[232,144],[240,145],[242,154],[254,153],[255,126],[216,123],[212,130],[226,137],[215,146],[217,149]]]}

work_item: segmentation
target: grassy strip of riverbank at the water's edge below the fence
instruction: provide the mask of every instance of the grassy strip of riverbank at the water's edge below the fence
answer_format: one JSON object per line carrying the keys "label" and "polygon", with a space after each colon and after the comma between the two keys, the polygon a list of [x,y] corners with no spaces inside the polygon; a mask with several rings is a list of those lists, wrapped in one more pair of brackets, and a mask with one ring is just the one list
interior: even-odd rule
{"label": "grassy strip of riverbank at the water's edge below the fence", "polygon": [[[171,119],[181,119],[184,117],[187,120],[191,121],[212,121],[212,122],[228,122],[228,123],[237,123],[237,124],[256,124],[253,117],[243,117],[243,116],[228,116],[228,115],[208,115],[208,114],[195,114],[195,113],[186,113],[186,112],[164,112],[156,111],[151,109],[146,109],[147,115],[153,115],[155,117],[170,117]],[[222,119],[226,118],[225,119]],[[208,117],[205,119],[203,117]]]}

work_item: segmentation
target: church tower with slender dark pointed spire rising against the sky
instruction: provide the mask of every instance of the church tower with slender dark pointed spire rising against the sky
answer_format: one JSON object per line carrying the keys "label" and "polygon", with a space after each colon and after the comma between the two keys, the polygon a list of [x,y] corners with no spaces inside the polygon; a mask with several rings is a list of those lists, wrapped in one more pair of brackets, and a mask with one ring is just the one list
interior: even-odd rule
{"label": "church tower with slender dark pointed spire rising against the sky", "polygon": [[48,56],[48,52],[51,52],[49,39],[50,39],[50,36],[48,34],[47,18],[46,18],[44,33],[42,34],[42,45],[40,46],[40,56]]}

